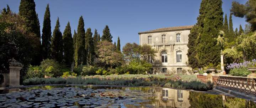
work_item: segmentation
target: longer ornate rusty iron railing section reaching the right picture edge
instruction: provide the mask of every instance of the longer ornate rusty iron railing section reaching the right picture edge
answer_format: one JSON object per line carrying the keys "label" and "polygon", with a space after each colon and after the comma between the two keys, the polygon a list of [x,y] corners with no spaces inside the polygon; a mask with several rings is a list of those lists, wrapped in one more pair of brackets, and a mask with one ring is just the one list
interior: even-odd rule
{"label": "longer ornate rusty iron railing section reaching the right picture edge", "polygon": [[215,85],[228,88],[231,90],[237,90],[240,92],[256,95],[256,79],[247,77],[235,77],[235,76],[219,76],[213,77],[216,83]]}

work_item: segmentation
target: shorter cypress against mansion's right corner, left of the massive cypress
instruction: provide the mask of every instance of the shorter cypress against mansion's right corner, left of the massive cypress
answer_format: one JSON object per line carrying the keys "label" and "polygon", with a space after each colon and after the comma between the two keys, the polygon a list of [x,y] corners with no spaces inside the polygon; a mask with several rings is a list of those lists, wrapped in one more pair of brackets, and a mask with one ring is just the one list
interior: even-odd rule
{"label": "shorter cypress against mansion's right corner, left of the massive cypress", "polygon": [[198,26],[194,25],[190,31],[190,34],[188,35],[188,44],[187,44],[188,64],[190,64],[192,68],[200,67],[197,59],[197,36],[198,36]]}

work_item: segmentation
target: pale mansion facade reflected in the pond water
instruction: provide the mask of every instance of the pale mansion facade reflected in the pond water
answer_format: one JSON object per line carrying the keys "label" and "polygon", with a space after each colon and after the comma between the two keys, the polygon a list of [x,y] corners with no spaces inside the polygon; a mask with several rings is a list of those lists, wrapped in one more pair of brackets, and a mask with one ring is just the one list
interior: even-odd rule
{"label": "pale mansion facade reflected in the pond water", "polygon": [[188,108],[190,103],[188,100],[189,91],[176,90],[169,88],[156,88],[155,94],[157,95],[154,101],[156,108]]}

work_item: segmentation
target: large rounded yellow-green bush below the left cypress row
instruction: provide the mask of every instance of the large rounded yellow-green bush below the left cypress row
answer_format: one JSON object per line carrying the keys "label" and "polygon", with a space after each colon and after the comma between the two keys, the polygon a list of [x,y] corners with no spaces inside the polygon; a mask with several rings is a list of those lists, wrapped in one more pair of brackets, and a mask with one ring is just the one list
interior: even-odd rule
{"label": "large rounded yellow-green bush below the left cypress row", "polygon": [[59,64],[59,62],[53,59],[46,59],[41,62],[40,67],[42,71],[47,74],[52,74],[53,77],[62,76],[63,72],[69,71],[69,68],[66,68],[65,65]]}

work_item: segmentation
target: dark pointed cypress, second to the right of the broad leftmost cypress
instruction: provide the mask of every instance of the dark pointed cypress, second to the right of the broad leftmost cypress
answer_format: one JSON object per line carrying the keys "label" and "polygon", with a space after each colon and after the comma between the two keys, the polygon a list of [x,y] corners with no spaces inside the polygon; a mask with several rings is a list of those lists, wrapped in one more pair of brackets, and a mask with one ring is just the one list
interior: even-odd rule
{"label": "dark pointed cypress, second to the right of the broad leftmost cypress", "polygon": [[51,42],[52,58],[58,62],[63,61],[63,40],[62,32],[60,32],[59,17],[57,19],[55,28],[53,30],[53,37]]}

